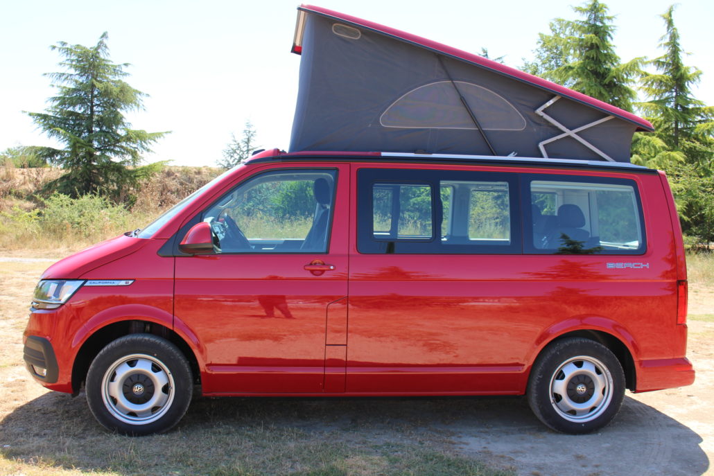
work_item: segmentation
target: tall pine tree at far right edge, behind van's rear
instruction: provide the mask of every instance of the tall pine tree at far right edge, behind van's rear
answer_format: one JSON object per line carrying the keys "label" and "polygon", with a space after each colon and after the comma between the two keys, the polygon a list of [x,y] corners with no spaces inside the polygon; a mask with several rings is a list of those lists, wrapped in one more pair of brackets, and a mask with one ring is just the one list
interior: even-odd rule
{"label": "tall pine tree at far right edge, behind van's rear", "polygon": [[667,171],[683,232],[710,243],[714,240],[714,108],[692,94],[702,72],[684,64],[673,12],[670,6],[662,15],[664,54],[650,62],[656,72],[642,79],[648,101],[638,104],[655,132],[635,134],[632,161]]}

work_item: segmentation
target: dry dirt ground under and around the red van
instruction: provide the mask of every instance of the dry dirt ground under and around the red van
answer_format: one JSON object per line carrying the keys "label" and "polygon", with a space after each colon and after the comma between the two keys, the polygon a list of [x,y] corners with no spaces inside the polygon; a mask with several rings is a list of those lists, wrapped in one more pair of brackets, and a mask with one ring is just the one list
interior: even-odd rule
{"label": "dry dirt ground under and around the red van", "polygon": [[[483,460],[503,471],[498,474],[714,475],[714,288],[690,284],[688,357],[697,370],[695,384],[628,393],[615,421],[593,435],[546,429],[522,397],[197,397],[177,430],[132,439],[102,430],[83,395],[73,399],[47,392],[24,370],[21,333],[31,290],[46,265],[49,261],[0,258],[0,474],[263,474],[250,465],[296,457],[308,441],[315,443],[308,452],[324,445],[439,448]],[[258,433],[262,440],[255,440]],[[253,450],[271,444],[279,450],[263,460],[241,460],[242,470],[199,466],[210,452],[220,460],[219,453],[247,451],[248,443]],[[285,456],[284,447],[293,448],[292,456]],[[365,457],[344,472],[299,473],[396,474],[380,469],[374,458]],[[173,467],[171,461],[181,465]],[[417,468],[399,474],[424,473]]]}

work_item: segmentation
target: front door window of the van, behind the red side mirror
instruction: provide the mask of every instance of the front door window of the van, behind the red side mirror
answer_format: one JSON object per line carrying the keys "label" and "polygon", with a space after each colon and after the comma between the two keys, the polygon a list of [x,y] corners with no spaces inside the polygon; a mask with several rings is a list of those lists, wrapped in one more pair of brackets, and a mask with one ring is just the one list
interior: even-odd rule
{"label": "front door window of the van, behind the red side mirror", "polygon": [[336,171],[263,173],[203,213],[216,253],[326,253]]}

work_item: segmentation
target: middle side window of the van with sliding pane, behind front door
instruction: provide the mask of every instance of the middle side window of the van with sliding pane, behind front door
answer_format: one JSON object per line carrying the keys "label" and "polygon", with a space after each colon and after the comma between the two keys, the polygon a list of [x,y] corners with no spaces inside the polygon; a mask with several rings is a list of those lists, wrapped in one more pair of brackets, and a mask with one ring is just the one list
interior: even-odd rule
{"label": "middle side window of the van with sliding pane, behind front door", "polygon": [[362,169],[358,250],[521,253],[517,188],[516,174]]}

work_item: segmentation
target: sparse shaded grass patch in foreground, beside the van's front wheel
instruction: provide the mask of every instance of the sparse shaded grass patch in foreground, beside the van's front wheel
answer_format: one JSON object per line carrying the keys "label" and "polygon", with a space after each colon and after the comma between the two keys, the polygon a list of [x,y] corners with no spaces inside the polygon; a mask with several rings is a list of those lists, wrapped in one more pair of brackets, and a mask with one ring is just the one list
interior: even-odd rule
{"label": "sparse shaded grass patch in foreground, beside the van's front wheel", "polygon": [[[443,437],[428,431],[417,436],[404,428],[385,432],[350,422],[326,428],[321,422],[338,415],[298,415],[314,407],[309,401],[199,400],[178,430],[132,439],[98,430],[83,418],[83,402],[53,394],[42,400],[21,407],[2,424],[13,439],[0,450],[0,471],[14,466],[24,474],[43,475],[511,474],[445,450]],[[42,428],[15,430],[20,418],[49,405]],[[346,410],[343,404],[337,407]]]}

